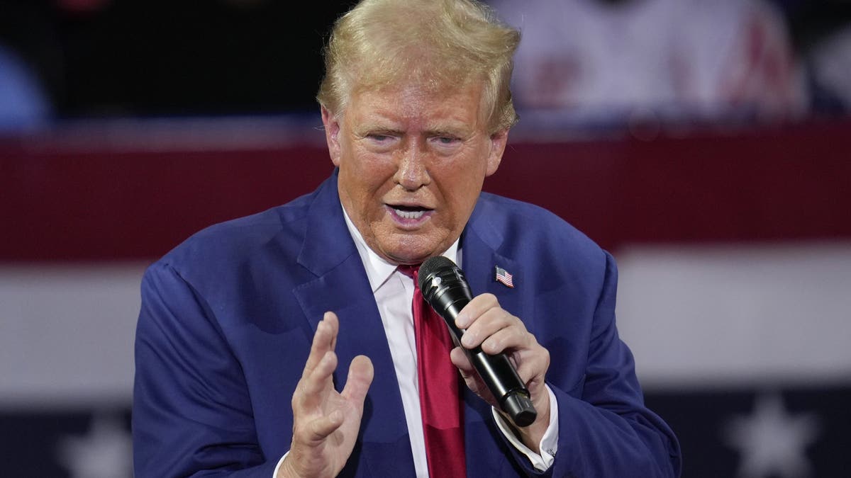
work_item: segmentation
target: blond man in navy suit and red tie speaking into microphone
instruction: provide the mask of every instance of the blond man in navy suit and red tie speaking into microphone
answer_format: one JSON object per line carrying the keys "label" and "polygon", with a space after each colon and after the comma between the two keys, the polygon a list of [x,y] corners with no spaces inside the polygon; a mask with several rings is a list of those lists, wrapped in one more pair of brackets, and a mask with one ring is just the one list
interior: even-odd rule
{"label": "blond man in navy suit and red tie speaking into microphone", "polygon": [[[137,476],[678,474],[614,327],[611,257],[481,193],[516,121],[518,40],[471,0],[364,0],[335,24],[317,97],[334,174],[146,272]],[[453,377],[425,379],[442,365],[420,352],[407,269],[436,255],[479,294],[461,344],[511,357],[533,424],[492,407],[460,348],[437,356]]]}

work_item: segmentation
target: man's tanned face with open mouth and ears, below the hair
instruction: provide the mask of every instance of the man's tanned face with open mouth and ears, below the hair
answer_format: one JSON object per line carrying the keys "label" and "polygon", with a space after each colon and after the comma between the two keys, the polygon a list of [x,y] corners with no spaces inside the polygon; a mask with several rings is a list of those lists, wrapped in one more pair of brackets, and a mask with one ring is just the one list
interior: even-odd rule
{"label": "man's tanned face with open mouth and ears, below the hair", "polygon": [[480,98],[480,84],[412,83],[353,94],[342,117],[323,109],[340,201],[382,258],[418,264],[460,236],[508,135],[488,134]]}

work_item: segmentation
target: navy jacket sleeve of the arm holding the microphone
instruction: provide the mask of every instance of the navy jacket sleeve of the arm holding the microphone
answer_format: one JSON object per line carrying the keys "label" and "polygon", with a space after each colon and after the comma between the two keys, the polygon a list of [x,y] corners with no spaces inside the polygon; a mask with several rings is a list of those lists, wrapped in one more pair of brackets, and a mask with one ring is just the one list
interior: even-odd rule
{"label": "navy jacket sleeve of the arm holding the microphone", "polygon": [[[660,417],[644,407],[631,351],[618,336],[614,321],[617,268],[610,254],[605,253],[605,257],[605,277],[593,314],[585,376],[572,390],[561,390],[548,382],[558,402],[555,461],[550,469],[541,472],[519,452],[511,450],[515,462],[528,476],[680,475],[677,437]],[[555,367],[568,364],[551,363],[551,373],[558,373]]]}

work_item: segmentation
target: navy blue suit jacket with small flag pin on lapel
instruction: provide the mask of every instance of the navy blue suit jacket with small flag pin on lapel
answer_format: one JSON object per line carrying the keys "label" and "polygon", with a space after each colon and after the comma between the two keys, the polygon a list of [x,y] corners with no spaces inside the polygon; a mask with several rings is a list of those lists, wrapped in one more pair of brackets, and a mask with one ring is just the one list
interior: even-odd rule
{"label": "navy blue suit jacket with small flag pin on lapel", "polygon": [[[483,193],[461,237],[474,294],[490,292],[551,354],[559,441],[545,473],[673,476],[679,447],[643,406],[614,325],[613,259],[542,208]],[[494,281],[494,266],[514,288]],[[270,478],[288,451],[290,400],[323,313],[340,318],[334,375],[369,356],[374,382],[341,476],[413,476],[402,400],[366,272],[346,230],[336,174],[278,208],[214,225],[151,265],[136,333],[137,478]],[[467,475],[538,475],[465,390]],[[442,477],[433,477],[442,478]]]}

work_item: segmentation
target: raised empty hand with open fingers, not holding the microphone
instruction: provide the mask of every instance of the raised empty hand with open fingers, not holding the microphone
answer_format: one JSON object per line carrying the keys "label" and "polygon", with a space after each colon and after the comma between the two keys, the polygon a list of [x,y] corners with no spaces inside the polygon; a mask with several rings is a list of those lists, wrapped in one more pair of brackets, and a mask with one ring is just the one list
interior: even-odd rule
{"label": "raised empty hand with open fingers, not holding the microphone", "polygon": [[373,365],[357,356],[342,392],[334,390],[334,348],[340,322],[326,312],[313,336],[311,353],[293,393],[293,442],[278,478],[331,477],[346,465],[363,417],[363,400],[372,384]]}

